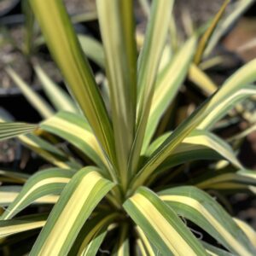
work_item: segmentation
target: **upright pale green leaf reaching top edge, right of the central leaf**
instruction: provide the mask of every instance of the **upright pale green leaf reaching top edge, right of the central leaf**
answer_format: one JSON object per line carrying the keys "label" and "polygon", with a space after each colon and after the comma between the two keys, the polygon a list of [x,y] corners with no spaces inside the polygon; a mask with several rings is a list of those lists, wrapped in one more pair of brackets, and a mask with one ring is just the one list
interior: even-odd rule
{"label": "upright pale green leaf reaching top edge, right of the central leaf", "polygon": [[131,172],[136,172],[139,155],[143,147],[143,137],[154,96],[154,84],[160,64],[160,57],[166,43],[172,5],[172,0],[154,0],[151,6],[143,49],[138,60],[137,131],[131,151],[129,165]]}

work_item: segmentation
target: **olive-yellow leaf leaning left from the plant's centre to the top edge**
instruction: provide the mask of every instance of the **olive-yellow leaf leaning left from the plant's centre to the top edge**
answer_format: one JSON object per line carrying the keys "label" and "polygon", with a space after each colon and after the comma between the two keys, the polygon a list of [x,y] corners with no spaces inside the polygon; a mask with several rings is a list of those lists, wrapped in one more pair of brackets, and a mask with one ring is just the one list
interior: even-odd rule
{"label": "olive-yellow leaf leaning left from the plant's centre to the top edge", "polygon": [[63,3],[51,0],[31,0],[30,3],[49,50],[60,67],[73,96],[102,147],[115,162],[111,122]]}

